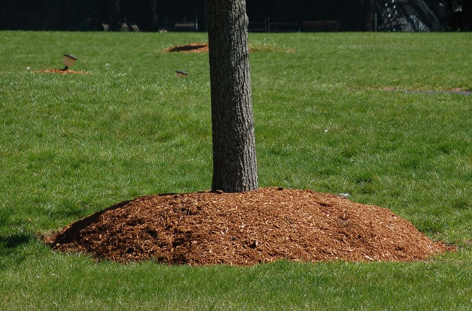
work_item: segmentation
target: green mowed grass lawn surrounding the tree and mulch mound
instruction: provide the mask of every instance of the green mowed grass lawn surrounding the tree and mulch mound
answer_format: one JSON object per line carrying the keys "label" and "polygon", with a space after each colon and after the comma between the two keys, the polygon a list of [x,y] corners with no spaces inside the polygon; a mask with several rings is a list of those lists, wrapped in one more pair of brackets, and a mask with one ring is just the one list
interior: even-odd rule
{"label": "green mowed grass lawn surrounding the tree and mulch mound", "polygon": [[[161,52],[203,41],[0,32],[0,310],[470,310],[472,96],[379,88],[471,90],[472,33],[249,35],[260,186],[350,193],[456,253],[121,265],[38,239],[123,200],[211,186],[208,55]],[[63,53],[88,74],[33,73]]]}

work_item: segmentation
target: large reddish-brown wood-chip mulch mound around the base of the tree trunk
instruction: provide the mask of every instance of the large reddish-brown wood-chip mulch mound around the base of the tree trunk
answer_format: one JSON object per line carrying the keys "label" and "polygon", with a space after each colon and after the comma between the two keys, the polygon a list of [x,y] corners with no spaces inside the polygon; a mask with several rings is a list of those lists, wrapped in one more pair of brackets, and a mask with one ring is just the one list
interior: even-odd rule
{"label": "large reddish-brown wood-chip mulch mound around the base of the tree trunk", "polygon": [[386,208],[273,187],[139,197],[50,233],[45,242],[97,260],[189,265],[413,261],[455,250]]}

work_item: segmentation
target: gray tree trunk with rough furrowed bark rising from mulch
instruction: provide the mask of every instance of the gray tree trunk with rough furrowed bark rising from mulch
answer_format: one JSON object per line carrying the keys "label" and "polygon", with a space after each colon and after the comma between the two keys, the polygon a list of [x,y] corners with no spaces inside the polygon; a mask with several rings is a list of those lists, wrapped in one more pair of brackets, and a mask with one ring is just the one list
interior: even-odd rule
{"label": "gray tree trunk with rough furrowed bark rising from mulch", "polygon": [[212,190],[257,190],[245,0],[207,0]]}

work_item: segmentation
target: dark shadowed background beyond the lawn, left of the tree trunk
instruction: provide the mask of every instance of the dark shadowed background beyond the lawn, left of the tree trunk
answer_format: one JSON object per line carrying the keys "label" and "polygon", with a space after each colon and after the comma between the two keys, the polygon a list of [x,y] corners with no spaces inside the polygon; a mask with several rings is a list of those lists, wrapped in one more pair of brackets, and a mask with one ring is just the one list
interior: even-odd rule
{"label": "dark shadowed background beyond the lawn, left of the tree trunk", "polygon": [[[156,31],[166,20],[205,18],[205,0],[0,0],[0,29],[119,30],[121,23]],[[202,29],[203,30],[203,29]]]}

